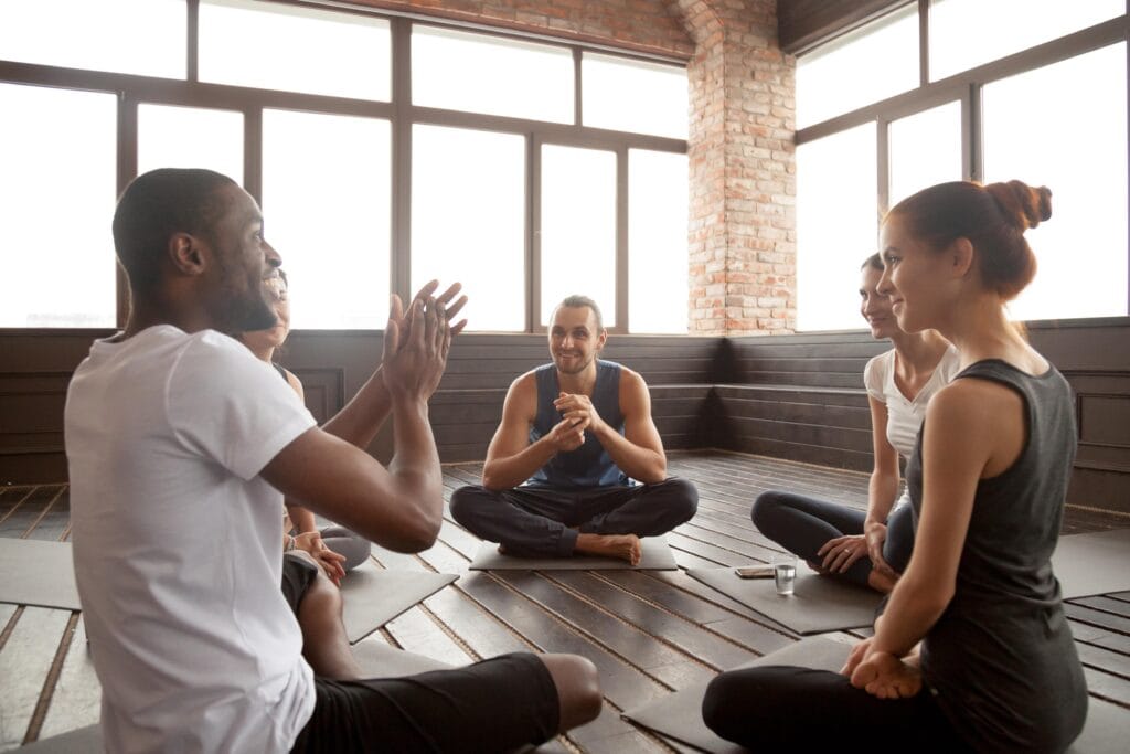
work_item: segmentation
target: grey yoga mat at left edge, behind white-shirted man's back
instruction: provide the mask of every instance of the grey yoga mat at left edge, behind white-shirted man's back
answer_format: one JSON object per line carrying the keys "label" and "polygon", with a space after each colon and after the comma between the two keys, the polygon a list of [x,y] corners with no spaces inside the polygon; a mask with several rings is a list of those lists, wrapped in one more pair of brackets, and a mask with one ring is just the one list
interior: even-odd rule
{"label": "grey yoga mat at left edge, behind white-shirted man's back", "polygon": [[0,603],[79,610],[68,541],[0,538]]}

